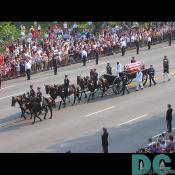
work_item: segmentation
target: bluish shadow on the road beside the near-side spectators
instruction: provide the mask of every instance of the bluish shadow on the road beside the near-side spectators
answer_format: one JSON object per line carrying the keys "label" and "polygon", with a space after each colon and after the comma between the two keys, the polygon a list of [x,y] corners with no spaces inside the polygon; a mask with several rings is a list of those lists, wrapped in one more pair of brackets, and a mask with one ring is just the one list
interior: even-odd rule
{"label": "bluish shadow on the road beside the near-side spectators", "polygon": [[[175,121],[173,122],[173,126],[175,126]],[[138,148],[146,146],[149,137],[163,133],[165,130],[164,114],[157,114],[120,127],[108,128],[109,152],[136,152]],[[68,150],[71,150],[72,153],[101,153],[101,134],[100,130],[100,132],[95,132],[92,135],[78,137],[72,140],[57,140],[57,143],[48,147],[46,151],[66,153]]]}

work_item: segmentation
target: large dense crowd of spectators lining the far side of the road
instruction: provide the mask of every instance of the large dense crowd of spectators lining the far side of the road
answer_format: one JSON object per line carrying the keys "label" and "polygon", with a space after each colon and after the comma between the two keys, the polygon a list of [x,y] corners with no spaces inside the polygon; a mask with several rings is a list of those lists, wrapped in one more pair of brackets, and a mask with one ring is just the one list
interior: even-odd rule
{"label": "large dense crowd of spectators lining the far side of the road", "polygon": [[0,73],[3,77],[18,77],[25,75],[25,62],[30,60],[32,72],[52,69],[52,59],[58,55],[58,66],[81,61],[81,52],[86,50],[88,59],[94,58],[94,50],[100,56],[110,55],[120,50],[121,40],[126,40],[127,48],[135,47],[135,40],[140,45],[147,44],[151,36],[153,44],[162,42],[171,30],[175,36],[175,25],[163,24],[156,27],[128,27],[126,24],[115,27],[104,27],[93,33],[93,22],[88,27],[79,30],[75,22],[68,27],[67,22],[53,23],[41,35],[41,25],[37,22],[28,31],[21,24],[19,39],[8,45],[0,56]]}

